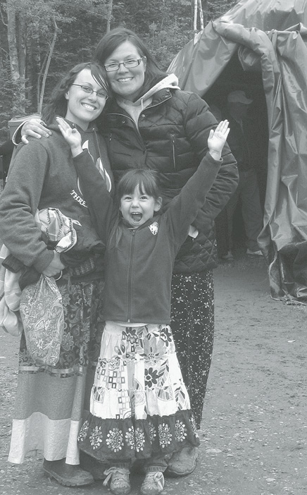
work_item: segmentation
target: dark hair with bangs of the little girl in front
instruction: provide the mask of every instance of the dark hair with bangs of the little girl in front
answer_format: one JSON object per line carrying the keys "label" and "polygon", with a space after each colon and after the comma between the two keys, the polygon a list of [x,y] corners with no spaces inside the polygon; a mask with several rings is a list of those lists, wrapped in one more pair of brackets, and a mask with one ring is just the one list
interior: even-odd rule
{"label": "dark hair with bangs of the little girl in front", "polygon": [[137,186],[139,186],[142,194],[152,196],[155,200],[161,197],[161,185],[156,171],[132,169],[127,171],[118,181],[116,189],[118,202],[124,195],[134,193]]}

